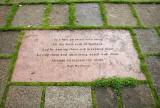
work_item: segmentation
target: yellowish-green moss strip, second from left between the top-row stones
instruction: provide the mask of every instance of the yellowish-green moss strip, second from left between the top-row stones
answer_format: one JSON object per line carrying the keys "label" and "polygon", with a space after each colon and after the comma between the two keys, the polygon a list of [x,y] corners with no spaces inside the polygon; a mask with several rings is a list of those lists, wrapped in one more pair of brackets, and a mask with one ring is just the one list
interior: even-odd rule
{"label": "yellowish-green moss strip, second from left between the top-row stones", "polygon": [[52,4],[48,4],[45,9],[45,18],[43,21],[43,26],[49,26],[49,20],[50,20],[50,12],[52,10]]}

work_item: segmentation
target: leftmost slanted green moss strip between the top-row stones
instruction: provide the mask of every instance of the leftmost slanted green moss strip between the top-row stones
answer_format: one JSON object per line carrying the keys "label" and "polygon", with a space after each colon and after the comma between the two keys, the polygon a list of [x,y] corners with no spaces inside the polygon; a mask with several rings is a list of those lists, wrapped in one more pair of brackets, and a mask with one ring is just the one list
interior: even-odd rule
{"label": "leftmost slanted green moss strip between the top-row stones", "polygon": [[18,4],[14,4],[14,5],[12,6],[11,12],[10,12],[10,14],[9,14],[9,16],[8,16],[8,19],[7,19],[7,22],[6,22],[6,25],[5,25],[6,28],[11,25],[12,20],[13,20],[13,18],[14,18],[14,15],[16,14],[16,11],[17,11],[17,10],[18,10]]}

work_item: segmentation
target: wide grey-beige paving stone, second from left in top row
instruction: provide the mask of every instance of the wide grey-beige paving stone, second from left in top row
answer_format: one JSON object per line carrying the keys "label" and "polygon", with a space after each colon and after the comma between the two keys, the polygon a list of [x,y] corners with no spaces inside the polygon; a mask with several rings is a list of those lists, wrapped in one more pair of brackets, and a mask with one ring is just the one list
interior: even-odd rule
{"label": "wide grey-beige paving stone, second from left in top row", "polygon": [[13,26],[40,26],[45,16],[45,5],[23,5],[19,7],[14,20]]}

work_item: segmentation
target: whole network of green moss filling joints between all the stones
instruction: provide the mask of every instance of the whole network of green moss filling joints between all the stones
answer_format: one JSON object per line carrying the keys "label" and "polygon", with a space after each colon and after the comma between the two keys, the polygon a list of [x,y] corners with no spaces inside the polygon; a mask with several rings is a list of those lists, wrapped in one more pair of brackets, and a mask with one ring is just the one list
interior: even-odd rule
{"label": "whole network of green moss filling joints between all the stones", "polygon": [[[103,21],[104,21],[104,25],[101,26],[85,26],[85,25],[75,25],[76,22],[76,16],[75,16],[75,3],[99,3],[100,4],[100,9],[101,9],[101,15],[103,17]],[[68,25],[64,25],[64,26],[49,26],[48,21],[49,21],[49,13],[51,11],[51,7],[52,4],[70,4],[70,21]],[[104,3],[125,3],[125,4],[129,4],[131,9],[132,9],[132,13],[133,15],[136,17],[137,22],[138,22],[138,26],[110,26],[108,25],[108,20],[107,20],[107,16],[106,16],[106,12],[105,12],[105,7],[104,7]],[[146,56],[160,56],[160,52],[159,53],[146,53],[143,54],[141,51],[141,48],[139,47],[137,38],[135,36],[135,33],[133,31],[133,29],[138,29],[138,28],[143,28],[143,29],[149,29],[149,28],[153,28],[156,29],[158,34],[160,35],[160,25],[159,26],[143,26],[139,16],[137,15],[137,12],[133,6],[133,4],[141,4],[141,3],[145,3],[145,4],[160,4],[160,1],[123,1],[123,0],[56,0],[56,1],[42,1],[42,2],[10,2],[10,0],[6,0],[4,3],[0,3],[0,5],[12,5],[12,10],[11,13],[7,19],[7,23],[4,27],[0,27],[0,31],[8,31],[8,30],[22,30],[20,33],[20,37],[19,37],[19,41],[17,43],[17,48],[14,52],[13,55],[0,55],[0,59],[2,58],[12,58],[12,63],[11,63],[11,67],[10,67],[10,73],[9,73],[9,77],[8,77],[8,83],[7,86],[5,88],[4,91],[4,95],[2,98],[2,102],[0,104],[0,108],[4,108],[5,105],[5,101],[6,101],[6,97],[7,97],[7,93],[8,93],[8,89],[9,86],[43,86],[42,89],[42,97],[41,97],[41,108],[44,108],[44,102],[45,102],[45,90],[46,90],[46,86],[91,86],[91,93],[92,93],[92,101],[93,101],[93,108],[97,108],[97,103],[96,103],[96,94],[95,94],[95,87],[114,87],[115,88],[115,92],[117,94],[117,100],[119,103],[119,108],[123,108],[123,102],[122,102],[122,97],[121,97],[121,90],[124,86],[137,86],[138,84],[143,84],[143,83],[148,83],[150,85],[154,100],[156,102],[156,106],[159,107],[160,106],[160,101],[158,99],[156,90],[154,88],[153,82],[152,82],[152,78],[148,72],[148,66],[145,62],[145,57]],[[39,26],[39,27],[13,27],[11,26],[11,22],[14,18],[14,15],[18,9],[18,5],[25,5],[25,4],[47,4],[47,8],[45,10],[45,18],[43,21],[43,26]],[[68,30],[74,30],[74,29],[126,29],[129,30],[131,35],[132,35],[132,39],[133,39],[133,43],[134,46],[138,52],[139,55],[139,59],[141,61],[141,69],[144,72],[144,74],[146,75],[147,80],[136,80],[133,78],[110,78],[110,79],[97,79],[95,81],[92,82],[11,82],[11,77],[12,77],[12,72],[14,69],[14,64],[16,62],[17,56],[18,56],[18,51],[19,51],[19,47],[21,45],[21,41],[24,35],[24,31],[23,30],[64,30],[64,29],[68,29]],[[155,106],[155,107],[156,107]]]}

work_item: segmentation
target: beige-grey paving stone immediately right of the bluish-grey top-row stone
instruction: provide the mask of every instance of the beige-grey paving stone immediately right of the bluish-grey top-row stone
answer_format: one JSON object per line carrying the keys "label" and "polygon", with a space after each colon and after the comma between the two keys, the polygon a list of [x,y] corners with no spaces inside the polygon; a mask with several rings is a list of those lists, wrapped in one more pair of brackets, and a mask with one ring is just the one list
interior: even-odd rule
{"label": "beige-grey paving stone immediately right of the bluish-grey top-row stone", "polygon": [[137,25],[137,20],[133,16],[129,5],[106,3],[105,6],[110,25]]}

